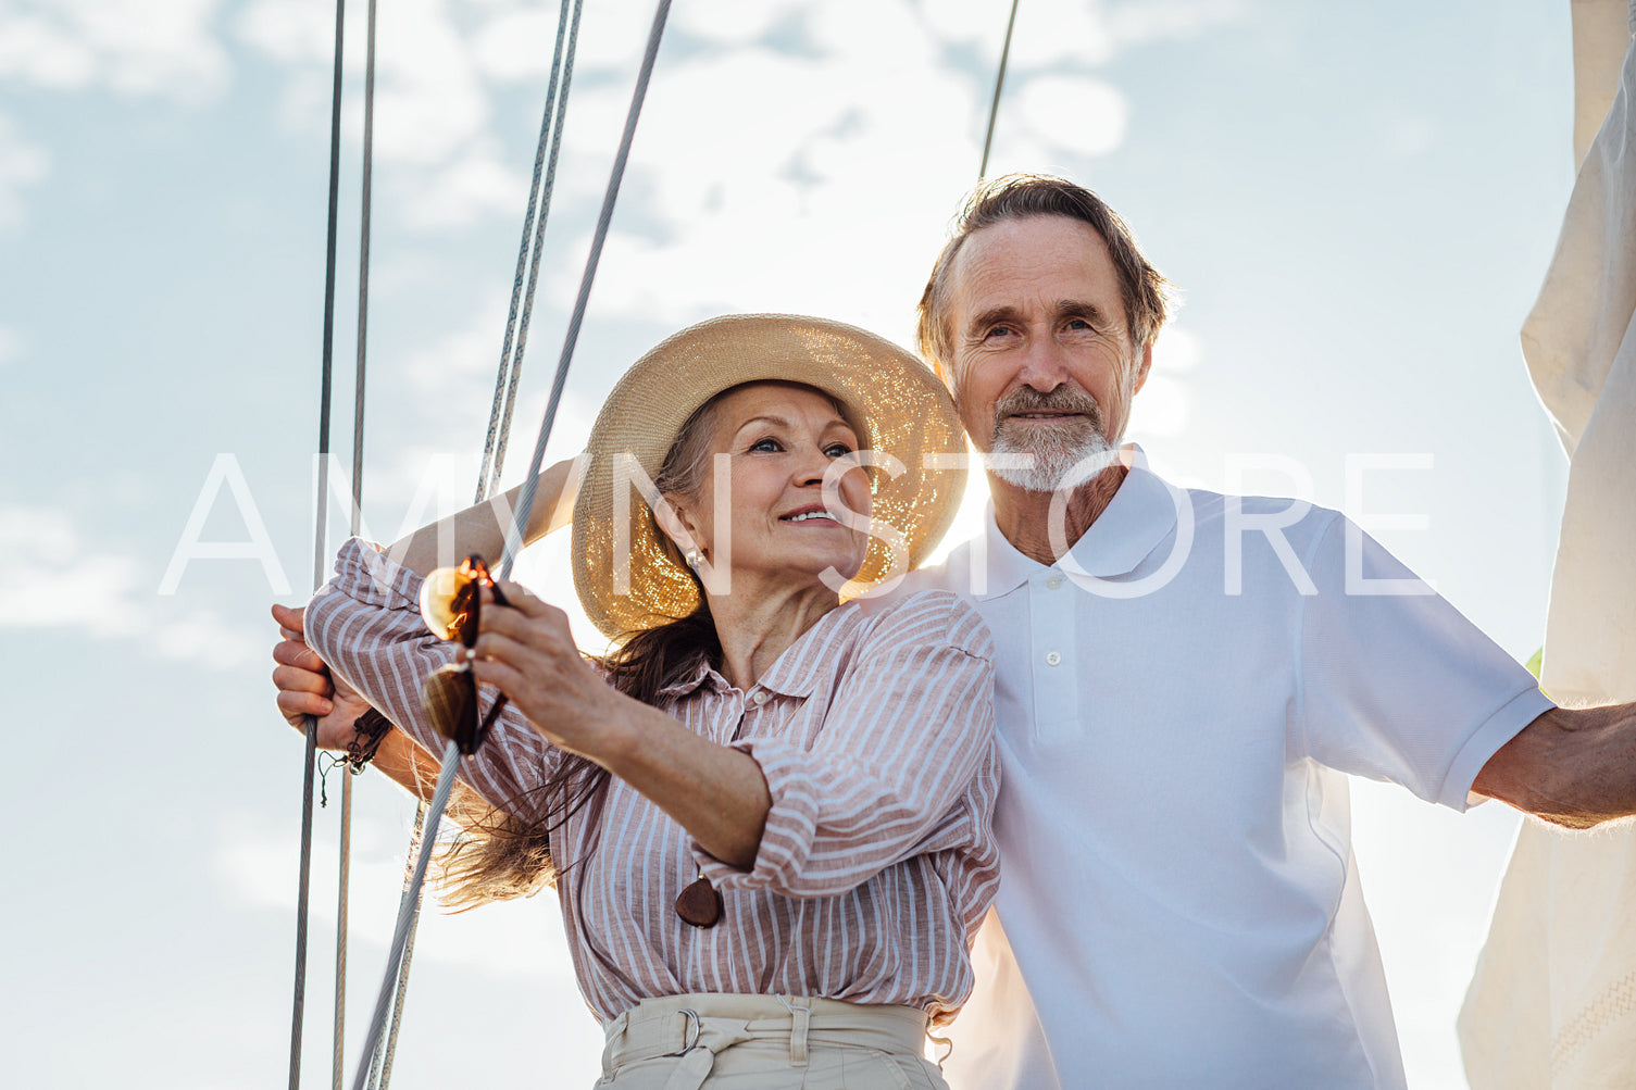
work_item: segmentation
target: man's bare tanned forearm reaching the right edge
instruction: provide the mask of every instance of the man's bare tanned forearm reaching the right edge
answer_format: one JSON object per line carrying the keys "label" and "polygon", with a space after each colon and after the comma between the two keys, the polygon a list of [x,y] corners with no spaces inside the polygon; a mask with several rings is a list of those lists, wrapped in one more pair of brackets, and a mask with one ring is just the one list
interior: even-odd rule
{"label": "man's bare tanned forearm reaching the right edge", "polygon": [[1636,704],[1551,709],[1500,746],[1471,789],[1567,828],[1636,813]]}

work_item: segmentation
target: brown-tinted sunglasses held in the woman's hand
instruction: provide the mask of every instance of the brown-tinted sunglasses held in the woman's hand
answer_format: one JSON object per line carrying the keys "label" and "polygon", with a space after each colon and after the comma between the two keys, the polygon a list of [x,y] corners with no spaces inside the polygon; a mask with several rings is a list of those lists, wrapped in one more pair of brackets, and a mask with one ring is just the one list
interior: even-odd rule
{"label": "brown-tinted sunglasses held in the woman's hand", "polygon": [[[458,568],[438,568],[429,574],[420,584],[420,617],[432,635],[440,640],[460,640],[470,653],[478,642],[483,588],[494,594],[497,606],[509,606],[506,596],[494,586],[483,556],[476,553],[466,556]],[[437,732],[453,741],[465,756],[478,751],[504,707],[502,692],[488,714],[479,715],[478,678],[471,673],[468,655],[438,666],[420,682],[420,709]]]}

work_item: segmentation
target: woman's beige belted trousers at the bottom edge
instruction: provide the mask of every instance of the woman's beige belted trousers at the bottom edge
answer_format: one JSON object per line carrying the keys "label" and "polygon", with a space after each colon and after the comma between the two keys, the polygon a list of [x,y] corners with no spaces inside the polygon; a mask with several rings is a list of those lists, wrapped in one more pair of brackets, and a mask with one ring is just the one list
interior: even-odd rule
{"label": "woman's beige belted trousers at the bottom edge", "polygon": [[926,1015],[803,995],[669,995],[605,1026],[617,1090],[947,1090]]}

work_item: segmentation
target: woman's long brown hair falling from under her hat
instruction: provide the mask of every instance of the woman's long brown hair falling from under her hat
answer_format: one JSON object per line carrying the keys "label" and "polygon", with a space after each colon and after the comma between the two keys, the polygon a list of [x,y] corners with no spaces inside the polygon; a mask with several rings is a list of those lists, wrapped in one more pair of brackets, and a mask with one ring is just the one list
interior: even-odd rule
{"label": "woman's long brown hair falling from under her hat", "polygon": [[[654,478],[661,494],[697,494],[710,458],[717,406],[728,393],[718,393],[682,424]],[[653,512],[646,517],[651,519]],[[682,565],[681,552],[669,537],[661,532],[659,540]],[[699,609],[692,614],[627,633],[609,655],[592,661],[615,691],[661,707],[667,687],[694,679],[705,666],[721,666],[721,640],[703,588]],[[551,831],[581,807],[600,805],[607,779],[605,768],[568,756],[551,779],[504,807],[489,805],[478,792],[456,786],[447,813],[460,831],[435,856],[443,903],[465,912],[491,900],[528,897],[555,887],[558,876],[579,861],[561,861],[551,854]]]}

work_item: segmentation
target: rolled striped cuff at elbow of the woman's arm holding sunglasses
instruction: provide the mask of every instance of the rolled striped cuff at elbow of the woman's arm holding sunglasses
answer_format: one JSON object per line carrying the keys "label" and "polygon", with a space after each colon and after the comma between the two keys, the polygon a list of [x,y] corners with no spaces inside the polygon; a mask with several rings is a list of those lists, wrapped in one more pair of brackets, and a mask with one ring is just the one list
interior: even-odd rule
{"label": "rolled striped cuff at elbow of the woman's arm holding sunglasses", "polygon": [[764,889],[798,895],[797,877],[807,866],[813,838],[818,835],[818,790],[807,774],[807,751],[782,738],[743,738],[735,750],[748,753],[767,781],[772,807],[761,831],[756,866],[749,871],[721,863],[699,841],[692,843],[694,859],[720,890]]}

